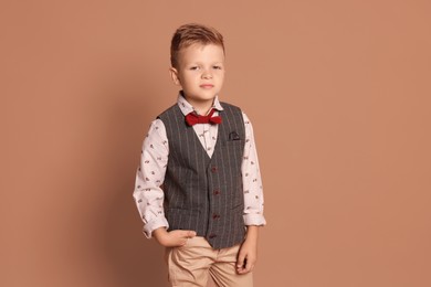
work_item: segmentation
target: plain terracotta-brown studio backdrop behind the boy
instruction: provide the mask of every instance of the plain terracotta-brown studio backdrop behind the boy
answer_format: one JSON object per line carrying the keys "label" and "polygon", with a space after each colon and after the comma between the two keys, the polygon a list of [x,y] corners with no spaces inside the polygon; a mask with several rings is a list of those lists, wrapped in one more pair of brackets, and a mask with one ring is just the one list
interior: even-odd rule
{"label": "plain terracotta-brown studio backdrop behind the boy", "polygon": [[269,225],[256,286],[431,286],[431,2],[0,3],[0,286],[167,286],[132,192],[169,40],[225,36]]}

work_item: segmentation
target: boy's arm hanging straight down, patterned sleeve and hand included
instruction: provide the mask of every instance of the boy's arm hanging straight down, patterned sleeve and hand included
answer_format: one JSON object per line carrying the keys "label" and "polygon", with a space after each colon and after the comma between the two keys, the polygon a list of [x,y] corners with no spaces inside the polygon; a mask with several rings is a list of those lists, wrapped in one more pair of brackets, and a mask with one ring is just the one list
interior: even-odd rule
{"label": "boy's arm hanging straight down, patterned sleeve and hand included", "polygon": [[246,225],[246,235],[238,254],[236,272],[239,274],[245,274],[253,270],[257,259],[259,226],[266,224],[263,216],[263,189],[253,127],[245,114],[243,114],[243,118],[245,126],[245,147],[242,162],[242,178],[244,187],[244,223]]}

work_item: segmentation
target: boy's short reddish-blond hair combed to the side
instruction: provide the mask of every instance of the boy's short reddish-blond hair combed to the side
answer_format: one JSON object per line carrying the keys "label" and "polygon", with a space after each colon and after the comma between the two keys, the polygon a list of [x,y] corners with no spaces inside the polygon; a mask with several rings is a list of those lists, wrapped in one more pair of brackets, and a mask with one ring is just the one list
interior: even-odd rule
{"label": "boy's short reddish-blond hair combed to the side", "polygon": [[178,67],[178,53],[192,44],[216,44],[223,49],[223,36],[216,29],[202,24],[183,24],[177,29],[170,43],[170,63]]}

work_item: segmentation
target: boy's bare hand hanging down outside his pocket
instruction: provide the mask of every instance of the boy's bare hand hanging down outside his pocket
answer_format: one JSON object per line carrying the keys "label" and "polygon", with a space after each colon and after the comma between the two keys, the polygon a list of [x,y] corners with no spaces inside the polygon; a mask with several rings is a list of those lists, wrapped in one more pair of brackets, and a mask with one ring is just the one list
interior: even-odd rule
{"label": "boy's bare hand hanging down outside his pocket", "polygon": [[257,261],[257,226],[249,226],[245,241],[240,247],[236,259],[236,273],[246,274],[252,272]]}

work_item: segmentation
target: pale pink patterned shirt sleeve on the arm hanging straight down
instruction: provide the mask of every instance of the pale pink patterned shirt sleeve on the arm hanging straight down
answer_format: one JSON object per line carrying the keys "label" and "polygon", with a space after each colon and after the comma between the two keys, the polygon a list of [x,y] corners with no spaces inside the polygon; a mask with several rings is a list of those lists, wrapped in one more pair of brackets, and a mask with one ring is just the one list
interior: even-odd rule
{"label": "pale pink patterned shirt sleeve on the arm hanging straight down", "polygon": [[244,223],[245,225],[265,225],[262,179],[259,169],[253,127],[245,114],[243,114],[243,118],[245,126],[245,147],[241,170],[244,187]]}

